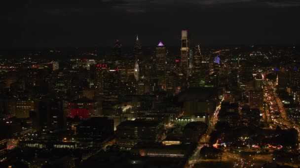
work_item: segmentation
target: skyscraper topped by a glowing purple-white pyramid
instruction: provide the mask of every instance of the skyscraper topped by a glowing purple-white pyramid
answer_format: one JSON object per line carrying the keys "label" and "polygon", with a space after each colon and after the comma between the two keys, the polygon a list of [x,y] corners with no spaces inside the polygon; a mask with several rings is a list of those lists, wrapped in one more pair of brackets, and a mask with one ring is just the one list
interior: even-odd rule
{"label": "skyscraper topped by a glowing purple-white pyramid", "polygon": [[156,71],[159,76],[159,85],[161,85],[162,89],[166,87],[166,63],[167,63],[167,53],[165,46],[159,42],[156,47]]}

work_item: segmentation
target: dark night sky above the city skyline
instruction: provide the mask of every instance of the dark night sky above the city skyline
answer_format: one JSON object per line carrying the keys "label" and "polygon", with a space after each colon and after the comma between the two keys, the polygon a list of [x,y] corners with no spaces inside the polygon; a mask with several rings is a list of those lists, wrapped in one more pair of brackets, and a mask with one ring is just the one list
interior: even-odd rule
{"label": "dark night sky above the city skyline", "polygon": [[300,42],[300,0],[5,0],[0,47]]}

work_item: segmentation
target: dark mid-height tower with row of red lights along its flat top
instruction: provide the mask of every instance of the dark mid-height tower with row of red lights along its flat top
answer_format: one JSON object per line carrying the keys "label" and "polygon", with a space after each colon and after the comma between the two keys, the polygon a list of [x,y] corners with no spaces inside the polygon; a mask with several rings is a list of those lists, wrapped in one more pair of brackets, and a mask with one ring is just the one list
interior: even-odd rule
{"label": "dark mid-height tower with row of red lights along its flat top", "polygon": [[103,95],[104,78],[108,73],[109,68],[107,64],[97,64],[95,72],[95,92],[96,96]]}

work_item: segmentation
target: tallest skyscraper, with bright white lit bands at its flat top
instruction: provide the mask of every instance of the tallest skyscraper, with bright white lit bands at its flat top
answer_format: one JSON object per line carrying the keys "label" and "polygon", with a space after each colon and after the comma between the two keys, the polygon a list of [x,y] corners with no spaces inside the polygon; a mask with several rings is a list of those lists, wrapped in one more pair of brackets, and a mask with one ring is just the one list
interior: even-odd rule
{"label": "tallest skyscraper, with bright white lit bands at its flat top", "polygon": [[188,51],[189,51],[188,30],[181,31],[181,68],[183,72],[188,71]]}

